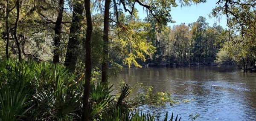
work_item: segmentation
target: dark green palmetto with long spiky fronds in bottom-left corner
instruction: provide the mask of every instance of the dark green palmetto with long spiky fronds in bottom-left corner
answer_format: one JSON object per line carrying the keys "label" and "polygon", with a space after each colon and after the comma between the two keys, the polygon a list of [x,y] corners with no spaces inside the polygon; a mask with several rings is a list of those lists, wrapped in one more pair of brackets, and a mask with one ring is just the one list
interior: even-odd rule
{"label": "dark green palmetto with long spiky fronds in bottom-left corner", "polygon": [[20,84],[15,85],[15,87],[3,84],[0,88],[0,116],[2,121],[18,121],[24,118],[25,114],[35,106],[32,104],[32,95],[29,94],[31,88],[24,89]]}

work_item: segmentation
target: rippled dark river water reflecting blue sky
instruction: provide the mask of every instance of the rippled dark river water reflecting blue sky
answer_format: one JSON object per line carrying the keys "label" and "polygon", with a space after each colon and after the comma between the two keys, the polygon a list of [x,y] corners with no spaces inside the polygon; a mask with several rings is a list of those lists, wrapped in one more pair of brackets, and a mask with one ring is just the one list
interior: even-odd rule
{"label": "rippled dark river water reflecting blue sky", "polygon": [[192,113],[200,115],[195,121],[256,121],[256,73],[244,73],[236,66],[125,68],[117,77],[110,77],[113,84],[120,80],[170,92],[175,100],[190,100],[157,110],[159,120],[168,111],[169,116],[172,112],[181,116],[181,121],[191,121]]}

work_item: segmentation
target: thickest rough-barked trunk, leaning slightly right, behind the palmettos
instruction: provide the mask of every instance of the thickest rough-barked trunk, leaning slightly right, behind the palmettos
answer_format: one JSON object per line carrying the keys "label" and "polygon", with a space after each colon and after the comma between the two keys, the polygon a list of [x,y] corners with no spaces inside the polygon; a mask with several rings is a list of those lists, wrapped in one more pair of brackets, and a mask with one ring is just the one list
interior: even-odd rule
{"label": "thickest rough-barked trunk, leaning slightly right, behind the palmettos", "polygon": [[64,65],[69,69],[69,72],[74,72],[76,69],[76,62],[77,57],[79,55],[78,48],[79,48],[79,30],[81,29],[81,21],[83,18],[83,2],[74,2],[74,12],[73,12],[73,19],[72,24],[70,27],[70,35],[67,45],[67,53],[66,53],[66,60]]}

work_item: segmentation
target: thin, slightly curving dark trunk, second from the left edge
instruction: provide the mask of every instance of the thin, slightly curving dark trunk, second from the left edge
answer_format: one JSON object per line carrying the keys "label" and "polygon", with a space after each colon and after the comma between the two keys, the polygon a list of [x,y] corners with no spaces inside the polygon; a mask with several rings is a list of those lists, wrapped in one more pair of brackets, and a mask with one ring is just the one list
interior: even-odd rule
{"label": "thin, slightly curving dark trunk, second from the left edge", "polygon": [[16,17],[16,21],[15,21],[15,26],[14,26],[14,39],[17,44],[18,57],[19,57],[19,61],[20,61],[21,60],[21,50],[20,50],[20,42],[17,37],[17,27],[18,27],[18,21],[19,21],[19,16],[20,16],[20,1],[19,0],[16,1],[16,9],[17,9],[17,17]]}

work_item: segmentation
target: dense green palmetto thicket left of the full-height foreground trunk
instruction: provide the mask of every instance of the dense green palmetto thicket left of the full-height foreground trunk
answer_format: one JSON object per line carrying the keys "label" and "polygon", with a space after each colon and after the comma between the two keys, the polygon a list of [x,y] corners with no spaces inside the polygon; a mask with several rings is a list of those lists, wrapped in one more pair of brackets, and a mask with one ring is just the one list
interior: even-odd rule
{"label": "dense green palmetto thicket left of the full-height foreground trunk", "polygon": [[81,101],[76,76],[61,65],[6,60],[0,63],[0,120],[61,120],[76,117]]}

